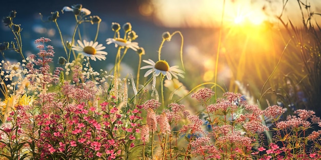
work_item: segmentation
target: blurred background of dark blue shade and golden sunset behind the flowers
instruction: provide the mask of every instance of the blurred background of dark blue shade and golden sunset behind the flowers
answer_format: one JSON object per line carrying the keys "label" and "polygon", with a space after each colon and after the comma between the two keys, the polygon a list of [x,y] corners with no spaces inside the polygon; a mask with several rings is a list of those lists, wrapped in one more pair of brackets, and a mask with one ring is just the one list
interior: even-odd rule
{"label": "blurred background of dark blue shade and golden sunset behind the flowers", "polygon": [[[182,32],[186,78],[180,81],[188,90],[216,81],[226,92],[242,93],[264,108],[278,104],[288,108],[289,113],[304,108],[321,116],[319,1],[7,1],[1,5],[0,13],[4,17],[16,10],[14,22],[23,29],[25,56],[37,53],[34,39],[48,37],[55,47],[57,62],[59,56],[64,56],[59,35],[54,23],[43,22],[39,13],[46,17],[59,11],[57,23],[65,40],[70,40],[74,17],[61,10],[74,4],[82,4],[102,19],[99,43],[113,37],[112,22],[131,22],[138,35],[135,41],[146,51],[143,59],[157,58],[163,32]],[[80,29],[85,33],[84,39],[94,39],[96,26],[87,23]],[[0,42],[14,41],[4,24],[0,35]],[[170,65],[180,65],[180,42],[180,37],[174,36],[164,44],[162,59]],[[105,46],[107,60],[96,61],[96,70],[109,71],[114,65],[116,48]],[[6,51],[5,56],[7,60],[21,61],[13,51]],[[137,61],[135,52],[128,53],[122,64],[123,75],[135,73]],[[216,94],[219,97],[223,92],[217,89]]]}

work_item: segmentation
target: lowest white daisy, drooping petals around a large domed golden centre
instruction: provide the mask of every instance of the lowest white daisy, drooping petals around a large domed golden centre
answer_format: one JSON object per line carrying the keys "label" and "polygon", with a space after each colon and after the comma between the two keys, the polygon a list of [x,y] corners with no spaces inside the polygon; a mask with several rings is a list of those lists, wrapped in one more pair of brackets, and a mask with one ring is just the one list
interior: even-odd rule
{"label": "lowest white daisy, drooping petals around a large domed golden centre", "polygon": [[168,63],[164,60],[159,60],[157,61],[156,63],[151,60],[151,59],[148,59],[147,60],[143,60],[145,63],[148,63],[150,65],[146,65],[146,66],[143,66],[141,67],[141,69],[147,69],[147,68],[151,68],[150,70],[148,70],[144,77],[147,77],[148,75],[150,75],[153,71],[155,71],[155,75],[158,76],[160,73],[162,73],[164,76],[167,77],[167,79],[172,79],[172,75],[173,77],[175,77],[176,79],[178,79],[177,76],[180,76],[182,78],[184,78],[184,71],[182,70],[179,70],[178,69],[178,66],[175,65],[175,66],[169,66]]}

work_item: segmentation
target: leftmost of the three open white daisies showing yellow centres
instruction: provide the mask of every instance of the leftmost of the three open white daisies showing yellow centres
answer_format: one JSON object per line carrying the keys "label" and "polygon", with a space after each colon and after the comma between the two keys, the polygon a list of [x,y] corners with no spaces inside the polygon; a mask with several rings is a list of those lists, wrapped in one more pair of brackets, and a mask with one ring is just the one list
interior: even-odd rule
{"label": "leftmost of the three open white daisies showing yellow centres", "polygon": [[81,52],[84,56],[90,57],[92,60],[105,60],[107,52],[101,51],[104,50],[106,47],[103,44],[98,44],[98,42],[93,41],[86,41],[84,43],[80,40],[77,40],[78,46],[72,45],[72,50]]}

